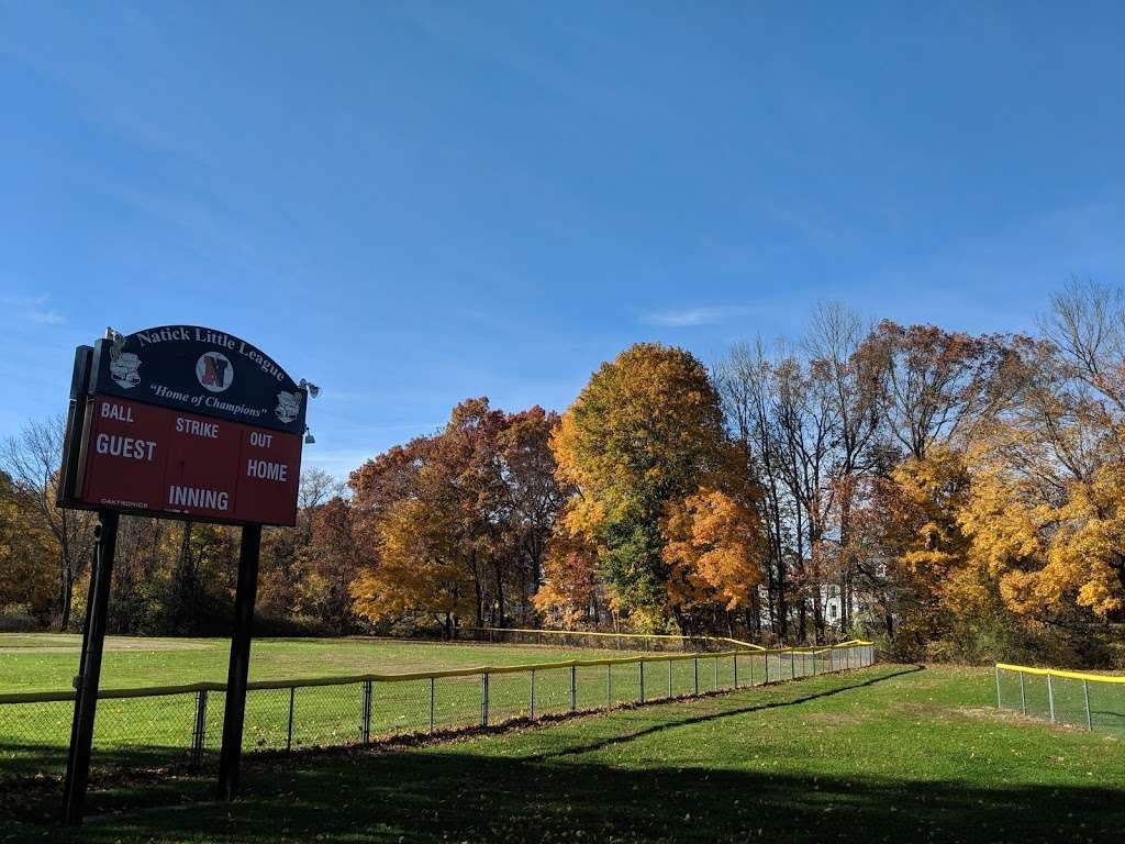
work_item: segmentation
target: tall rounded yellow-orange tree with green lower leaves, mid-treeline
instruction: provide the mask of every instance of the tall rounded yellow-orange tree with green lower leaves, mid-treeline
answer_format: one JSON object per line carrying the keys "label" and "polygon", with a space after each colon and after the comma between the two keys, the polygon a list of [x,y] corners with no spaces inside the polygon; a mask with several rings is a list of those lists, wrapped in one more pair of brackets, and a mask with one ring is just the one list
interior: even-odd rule
{"label": "tall rounded yellow-orange tree with green lower leaves, mid-treeline", "polygon": [[714,472],[726,442],[706,369],[657,343],[594,372],[551,439],[560,482],[580,496],[572,530],[593,540],[598,574],[634,627],[673,621],[662,522]]}

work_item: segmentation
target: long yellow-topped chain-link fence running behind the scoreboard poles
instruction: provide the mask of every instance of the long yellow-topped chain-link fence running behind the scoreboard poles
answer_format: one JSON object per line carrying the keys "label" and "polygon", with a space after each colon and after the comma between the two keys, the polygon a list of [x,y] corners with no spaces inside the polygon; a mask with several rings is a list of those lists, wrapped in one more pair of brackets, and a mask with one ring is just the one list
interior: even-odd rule
{"label": "long yellow-topped chain-link fence running behind the scoreboard poles", "polygon": [[[666,653],[560,663],[249,684],[248,753],[367,745],[777,683],[871,665],[874,646]],[[65,767],[72,692],[0,695],[0,785]],[[223,736],[220,683],[104,690],[93,764],[210,766]]]}

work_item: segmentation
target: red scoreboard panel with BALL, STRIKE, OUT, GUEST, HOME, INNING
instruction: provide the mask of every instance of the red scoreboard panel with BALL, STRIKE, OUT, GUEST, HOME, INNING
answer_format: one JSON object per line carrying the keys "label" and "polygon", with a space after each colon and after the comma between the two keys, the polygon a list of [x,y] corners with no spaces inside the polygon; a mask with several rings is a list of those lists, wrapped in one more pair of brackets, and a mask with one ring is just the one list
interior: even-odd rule
{"label": "red scoreboard panel with BALL, STRIKE, OUT, GUEST, HOME, INNING", "polygon": [[294,524],[300,436],[94,394],[82,501],[151,514]]}

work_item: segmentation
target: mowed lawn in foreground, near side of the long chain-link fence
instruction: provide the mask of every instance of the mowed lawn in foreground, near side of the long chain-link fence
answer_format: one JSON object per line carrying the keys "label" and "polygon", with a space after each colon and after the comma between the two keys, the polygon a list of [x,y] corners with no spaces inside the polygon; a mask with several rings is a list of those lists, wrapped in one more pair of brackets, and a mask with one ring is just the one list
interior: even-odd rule
{"label": "mowed lawn in foreground, near side of the long chain-link fence", "polygon": [[[1125,744],[994,710],[988,670],[880,665],[395,751],[102,787],[98,842],[1120,842]],[[173,805],[169,807],[169,805]],[[24,802],[0,839],[71,839]],[[7,835],[7,838],[4,836]]]}

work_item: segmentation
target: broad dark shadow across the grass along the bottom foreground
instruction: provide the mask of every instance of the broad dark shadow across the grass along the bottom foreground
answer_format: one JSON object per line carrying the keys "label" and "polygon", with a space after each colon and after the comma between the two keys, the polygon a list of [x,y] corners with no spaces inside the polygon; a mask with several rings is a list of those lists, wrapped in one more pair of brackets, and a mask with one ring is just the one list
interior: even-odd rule
{"label": "broad dark shadow across the grass along the bottom foreground", "polygon": [[274,766],[269,776],[256,770],[233,807],[104,818],[88,823],[81,838],[1028,844],[1119,842],[1125,824],[1122,792],[1105,788],[637,770],[448,752],[321,762],[315,770]]}

